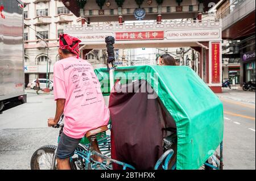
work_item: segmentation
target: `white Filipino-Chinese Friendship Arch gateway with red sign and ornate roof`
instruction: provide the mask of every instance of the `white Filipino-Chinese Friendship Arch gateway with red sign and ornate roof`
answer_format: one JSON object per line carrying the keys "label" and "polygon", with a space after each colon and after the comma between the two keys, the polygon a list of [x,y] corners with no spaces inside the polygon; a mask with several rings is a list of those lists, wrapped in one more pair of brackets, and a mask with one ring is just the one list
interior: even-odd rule
{"label": "white Filipino-Chinese Friendship Arch gateway with red sign and ornate roof", "polygon": [[[205,9],[209,7],[204,3],[210,1],[140,1],[138,5],[135,1],[110,0],[108,6],[106,1],[61,1],[83,19],[80,26],[64,29],[82,41],[83,56],[93,49],[106,48],[106,36],[115,37],[116,49],[190,47],[198,52],[195,66],[199,76],[214,92],[222,91],[222,22],[202,19],[202,13],[207,14]],[[213,1],[211,5],[215,5]],[[131,10],[130,14],[127,9]],[[92,26],[93,22],[101,23]],[[141,58],[139,64],[146,61],[138,58]],[[191,58],[184,58],[189,64]]]}

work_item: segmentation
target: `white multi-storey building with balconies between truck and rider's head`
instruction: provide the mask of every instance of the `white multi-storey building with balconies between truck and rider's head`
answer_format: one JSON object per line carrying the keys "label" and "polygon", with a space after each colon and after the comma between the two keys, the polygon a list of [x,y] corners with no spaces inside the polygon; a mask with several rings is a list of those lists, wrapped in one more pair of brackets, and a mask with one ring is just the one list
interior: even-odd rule
{"label": "white multi-storey building with balconies between truck and rider's head", "polygon": [[[81,24],[81,20],[56,0],[24,0],[25,83],[46,78],[47,56],[49,78],[53,77],[53,64],[59,60],[59,34],[64,26]],[[47,45],[36,35],[43,37]]]}

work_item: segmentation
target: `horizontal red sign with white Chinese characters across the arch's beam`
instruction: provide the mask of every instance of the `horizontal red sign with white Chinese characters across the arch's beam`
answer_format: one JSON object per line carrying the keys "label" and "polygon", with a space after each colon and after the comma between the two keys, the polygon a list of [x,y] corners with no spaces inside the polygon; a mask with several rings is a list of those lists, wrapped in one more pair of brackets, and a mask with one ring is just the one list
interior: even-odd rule
{"label": "horizontal red sign with white Chinese characters across the arch's beam", "polygon": [[164,31],[116,32],[115,40],[163,40]]}

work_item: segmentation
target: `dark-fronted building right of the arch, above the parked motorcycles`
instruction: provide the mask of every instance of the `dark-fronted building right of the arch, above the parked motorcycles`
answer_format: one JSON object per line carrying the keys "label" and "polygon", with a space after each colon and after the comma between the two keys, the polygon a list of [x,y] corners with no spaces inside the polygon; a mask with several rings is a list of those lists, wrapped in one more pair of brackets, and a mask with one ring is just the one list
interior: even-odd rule
{"label": "dark-fronted building right of the arch, above the parked motorcycles", "polygon": [[255,81],[255,1],[222,0],[216,14],[222,19],[223,78],[240,86]]}

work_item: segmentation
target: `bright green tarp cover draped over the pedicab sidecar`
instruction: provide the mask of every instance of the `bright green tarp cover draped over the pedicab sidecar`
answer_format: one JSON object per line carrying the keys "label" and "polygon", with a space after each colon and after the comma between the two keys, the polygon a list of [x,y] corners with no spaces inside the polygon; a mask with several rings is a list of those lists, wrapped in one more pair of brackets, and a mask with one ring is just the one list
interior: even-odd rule
{"label": "bright green tarp cover draped over the pedicab sidecar", "polygon": [[[103,84],[102,92],[108,94],[108,70],[96,69],[95,73]],[[123,81],[151,83],[176,123],[177,169],[199,169],[218,148],[224,131],[222,103],[191,68],[129,66],[118,67],[114,74]]]}

